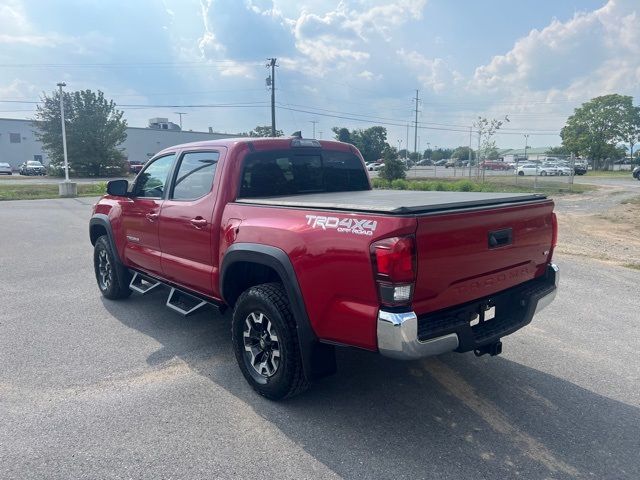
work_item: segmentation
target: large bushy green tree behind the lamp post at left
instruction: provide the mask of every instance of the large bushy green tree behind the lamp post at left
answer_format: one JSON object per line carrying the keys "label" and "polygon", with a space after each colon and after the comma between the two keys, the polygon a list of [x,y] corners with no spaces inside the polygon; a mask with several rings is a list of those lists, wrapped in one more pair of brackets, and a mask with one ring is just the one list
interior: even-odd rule
{"label": "large bushy green tree behind the lamp post at left", "polygon": [[[120,175],[126,171],[118,148],[127,138],[127,122],[113,100],[98,90],[63,94],[69,170],[73,175]],[[33,121],[51,166],[64,164],[60,122],[60,92],[42,97]]]}

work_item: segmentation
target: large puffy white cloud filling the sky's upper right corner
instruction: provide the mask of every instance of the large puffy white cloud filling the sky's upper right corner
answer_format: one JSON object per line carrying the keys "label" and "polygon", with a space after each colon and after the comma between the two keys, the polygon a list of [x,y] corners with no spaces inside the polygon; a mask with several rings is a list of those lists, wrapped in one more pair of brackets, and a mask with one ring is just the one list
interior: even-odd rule
{"label": "large puffy white cloud filling the sky's upper right corner", "polygon": [[469,86],[480,91],[556,89],[573,97],[634,89],[640,67],[637,9],[634,0],[610,0],[593,12],[532,30],[509,52],[478,67]]}

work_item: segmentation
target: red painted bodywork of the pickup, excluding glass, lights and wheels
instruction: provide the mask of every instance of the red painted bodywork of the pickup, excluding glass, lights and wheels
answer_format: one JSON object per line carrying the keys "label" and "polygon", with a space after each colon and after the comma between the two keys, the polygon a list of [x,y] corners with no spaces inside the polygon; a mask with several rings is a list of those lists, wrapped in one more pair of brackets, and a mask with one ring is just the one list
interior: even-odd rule
{"label": "red painted bodywork of the pickup, excluding glass, lights and wheels", "polygon": [[[311,325],[321,340],[376,350],[380,302],[370,245],[382,238],[415,235],[417,281],[413,309],[418,313],[457,305],[542,275],[551,260],[553,202],[431,215],[327,212],[235,203],[242,159],[251,151],[284,150],[290,139],[237,139],[173,147],[158,156],[184,151],[220,151],[211,192],[190,202],[140,201],[106,196],[95,207],[109,216],[124,263],[215,299],[221,299],[220,265],[234,243],[281,249],[291,260]],[[338,142],[325,149],[357,150]],[[360,157],[362,160],[362,158]],[[364,162],[362,168],[364,169]],[[140,202],[140,203],[138,203]],[[160,213],[157,222],[145,214]],[[331,215],[377,222],[372,235],[314,228],[307,215]],[[190,219],[207,220],[195,229]],[[146,223],[145,223],[146,222]],[[488,249],[490,231],[513,229],[512,245]],[[139,233],[139,241],[127,235]],[[155,232],[155,233],[154,233]],[[155,235],[155,237],[154,237]]]}

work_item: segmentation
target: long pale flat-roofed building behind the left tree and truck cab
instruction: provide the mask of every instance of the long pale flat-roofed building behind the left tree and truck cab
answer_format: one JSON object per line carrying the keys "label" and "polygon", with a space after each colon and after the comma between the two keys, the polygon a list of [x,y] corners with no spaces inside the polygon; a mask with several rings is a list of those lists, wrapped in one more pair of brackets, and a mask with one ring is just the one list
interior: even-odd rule
{"label": "long pale flat-roofed building behind the left tree and truck cab", "polygon": [[[155,118],[151,119],[150,122],[156,120],[165,119]],[[150,123],[150,125],[153,124]],[[128,160],[146,161],[160,150],[180,143],[238,136],[227,133],[214,133],[211,129],[209,129],[209,132],[185,132],[181,131],[178,125],[176,125],[177,129],[169,126],[163,128],[156,125],[149,128],[127,128],[127,139],[120,148],[123,149]],[[33,133],[34,130],[35,127],[30,120],[0,118],[0,162],[11,164],[15,170],[17,170],[18,165],[27,160],[37,160],[44,165],[48,165],[49,158],[42,149],[42,144],[36,140]]]}

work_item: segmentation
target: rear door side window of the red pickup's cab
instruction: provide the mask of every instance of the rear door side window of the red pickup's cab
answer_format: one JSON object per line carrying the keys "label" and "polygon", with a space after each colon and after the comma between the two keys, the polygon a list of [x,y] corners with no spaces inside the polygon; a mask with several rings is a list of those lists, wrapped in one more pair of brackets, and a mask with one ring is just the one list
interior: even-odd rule
{"label": "rear door side window of the red pickup's cab", "polygon": [[188,152],[182,156],[173,186],[174,200],[195,200],[211,191],[218,152]]}

